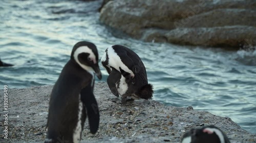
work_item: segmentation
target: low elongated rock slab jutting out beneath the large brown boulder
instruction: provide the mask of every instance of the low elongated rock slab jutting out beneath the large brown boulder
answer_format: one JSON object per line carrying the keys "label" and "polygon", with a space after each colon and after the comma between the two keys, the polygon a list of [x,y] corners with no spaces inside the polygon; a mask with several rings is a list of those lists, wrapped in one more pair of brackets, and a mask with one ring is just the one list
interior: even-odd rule
{"label": "low elongated rock slab jutting out beneath the large brown boulder", "polygon": [[[256,19],[255,19],[256,20]],[[256,38],[256,27],[223,26],[212,28],[177,28],[165,34],[168,42],[176,44],[204,46],[241,47],[248,44],[246,40]],[[200,40],[198,40],[200,39]],[[256,45],[256,41],[251,43]]]}

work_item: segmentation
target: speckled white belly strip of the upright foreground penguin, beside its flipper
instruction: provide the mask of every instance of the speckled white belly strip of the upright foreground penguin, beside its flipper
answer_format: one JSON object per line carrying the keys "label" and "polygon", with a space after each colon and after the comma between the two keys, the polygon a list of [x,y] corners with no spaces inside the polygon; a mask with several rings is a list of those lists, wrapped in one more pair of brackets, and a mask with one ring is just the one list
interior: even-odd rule
{"label": "speckled white belly strip of the upright foreground penguin, beside its flipper", "polygon": [[78,115],[77,115],[77,124],[74,129],[73,133],[73,142],[79,143],[81,139],[81,132],[82,132],[82,101],[81,101],[81,95],[79,94],[79,104],[78,104]]}

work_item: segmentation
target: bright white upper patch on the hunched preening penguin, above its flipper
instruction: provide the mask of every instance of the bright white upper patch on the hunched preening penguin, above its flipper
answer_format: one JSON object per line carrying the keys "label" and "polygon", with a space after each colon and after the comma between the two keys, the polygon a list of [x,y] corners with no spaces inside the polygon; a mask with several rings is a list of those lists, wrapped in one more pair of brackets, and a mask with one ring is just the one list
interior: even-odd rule
{"label": "bright white upper patch on the hunched preening penguin, above its flipper", "polygon": [[[118,70],[119,72],[121,72],[119,69],[119,67],[121,67],[122,70],[130,73],[131,76],[134,77],[133,71],[130,70],[126,65],[123,64],[123,62],[120,59],[120,56],[117,55],[117,53],[115,52],[113,47],[108,48],[108,53],[106,53],[106,54],[108,54],[108,57],[109,57],[109,62],[108,62],[109,67],[113,67],[116,70]],[[102,58],[104,58],[104,56]]]}

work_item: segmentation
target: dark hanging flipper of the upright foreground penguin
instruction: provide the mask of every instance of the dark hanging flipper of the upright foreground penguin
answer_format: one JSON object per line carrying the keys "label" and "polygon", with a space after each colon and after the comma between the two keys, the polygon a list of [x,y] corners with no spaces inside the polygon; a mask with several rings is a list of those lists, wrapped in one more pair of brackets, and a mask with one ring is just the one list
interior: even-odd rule
{"label": "dark hanging flipper of the upright foreground penguin", "polygon": [[99,108],[92,89],[93,88],[89,84],[86,88],[81,90],[80,95],[81,101],[86,107],[90,131],[95,134],[99,128]]}

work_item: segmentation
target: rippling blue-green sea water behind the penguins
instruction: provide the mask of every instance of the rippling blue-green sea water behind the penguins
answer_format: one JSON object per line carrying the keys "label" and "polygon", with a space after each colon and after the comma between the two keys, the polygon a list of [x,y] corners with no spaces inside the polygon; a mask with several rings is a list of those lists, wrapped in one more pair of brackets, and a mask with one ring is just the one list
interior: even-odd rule
{"label": "rippling blue-green sea water behind the penguins", "polygon": [[[256,51],[146,43],[114,37],[99,22],[101,2],[9,1],[0,5],[0,56],[14,64],[0,67],[0,84],[10,89],[54,84],[73,45],[96,44],[99,55],[114,44],[133,49],[166,105],[207,110],[230,117],[256,133]],[[102,81],[107,73],[101,67]],[[18,96],[18,95],[17,95]]]}

